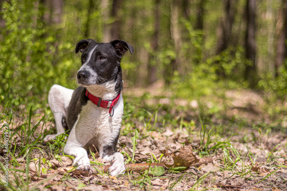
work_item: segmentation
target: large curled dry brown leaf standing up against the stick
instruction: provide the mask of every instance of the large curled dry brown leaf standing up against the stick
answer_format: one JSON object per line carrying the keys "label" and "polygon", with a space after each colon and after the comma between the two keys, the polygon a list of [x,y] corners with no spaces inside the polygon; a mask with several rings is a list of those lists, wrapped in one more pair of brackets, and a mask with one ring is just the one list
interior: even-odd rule
{"label": "large curled dry brown leaf standing up against the stick", "polygon": [[180,148],[179,155],[172,153],[171,156],[174,161],[174,167],[186,166],[189,167],[192,164],[199,162],[196,156],[192,153],[193,145],[189,144]]}

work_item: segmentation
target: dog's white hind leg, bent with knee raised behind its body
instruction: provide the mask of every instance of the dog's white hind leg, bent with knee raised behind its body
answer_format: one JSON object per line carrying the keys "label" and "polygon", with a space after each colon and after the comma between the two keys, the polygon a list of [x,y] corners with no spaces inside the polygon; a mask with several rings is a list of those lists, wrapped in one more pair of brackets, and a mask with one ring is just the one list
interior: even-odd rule
{"label": "dog's white hind leg, bent with knee raised behind its body", "polygon": [[72,97],[74,90],[65,88],[63,86],[54,84],[49,91],[48,101],[51,108],[52,113],[54,113],[57,134],[55,135],[47,135],[44,138],[44,141],[50,141],[60,135],[65,133],[65,129],[62,125],[63,117],[67,115],[67,108],[69,107],[69,103]]}

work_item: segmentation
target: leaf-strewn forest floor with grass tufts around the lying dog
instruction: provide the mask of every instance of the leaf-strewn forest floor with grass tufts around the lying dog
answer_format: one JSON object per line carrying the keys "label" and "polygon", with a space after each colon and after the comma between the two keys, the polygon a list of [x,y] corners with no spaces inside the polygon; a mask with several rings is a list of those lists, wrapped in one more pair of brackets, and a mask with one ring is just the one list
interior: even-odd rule
{"label": "leaf-strewn forest floor with grass tufts around the lying dog", "polygon": [[[131,92],[138,93],[140,90],[128,90],[128,101],[134,100],[129,97]],[[146,101],[150,101],[147,105],[152,105],[152,99]],[[164,167],[164,170],[158,167],[163,166],[160,163],[147,170],[112,177],[108,172],[101,172],[102,167],[95,166],[110,163],[101,157],[91,156],[91,168],[97,167],[96,173],[95,170],[77,171],[71,167],[73,159],[62,152],[66,135],[48,143],[42,141],[43,136],[55,131],[52,115],[44,116],[41,109],[11,112],[11,109],[1,105],[1,143],[5,140],[6,123],[10,130],[9,154],[4,155],[5,147],[0,151],[0,160],[4,165],[3,158],[9,158],[8,187],[4,182],[7,173],[1,164],[0,190],[287,191],[286,131],[273,128],[274,123],[276,127],[282,126],[282,123],[273,121],[266,127],[260,127],[244,119],[243,114],[241,121],[218,115],[206,115],[201,120],[196,110],[191,108],[194,104],[187,109],[175,104],[173,106],[178,107],[176,110],[159,107],[153,113],[142,109],[144,105],[141,103],[126,105],[117,144],[117,151],[123,153],[125,162],[171,164],[178,163],[174,161],[174,154],[183,156],[180,160],[189,160],[193,153],[199,160],[209,157],[209,163],[189,164],[188,168]],[[191,114],[191,110],[195,112]],[[145,113],[145,117],[141,112]],[[245,115],[248,116],[248,113]],[[254,112],[252,115],[255,115]],[[188,145],[185,146],[186,140],[192,145],[189,145],[189,151]],[[181,165],[189,166],[185,162]]]}

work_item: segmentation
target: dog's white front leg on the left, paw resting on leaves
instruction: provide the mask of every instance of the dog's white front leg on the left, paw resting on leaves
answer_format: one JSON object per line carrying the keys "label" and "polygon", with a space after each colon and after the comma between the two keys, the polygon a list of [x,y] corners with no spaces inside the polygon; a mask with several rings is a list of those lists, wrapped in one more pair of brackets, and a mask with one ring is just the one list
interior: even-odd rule
{"label": "dog's white front leg on the left, paw resting on leaves", "polygon": [[[90,160],[88,158],[88,153],[84,149],[84,145],[90,141],[89,133],[86,134],[85,129],[78,129],[76,126],[79,121],[79,117],[75,122],[74,127],[72,128],[67,143],[64,147],[65,155],[74,156],[74,165],[78,165],[77,170],[89,170],[90,169]],[[77,132],[76,132],[77,131]]]}

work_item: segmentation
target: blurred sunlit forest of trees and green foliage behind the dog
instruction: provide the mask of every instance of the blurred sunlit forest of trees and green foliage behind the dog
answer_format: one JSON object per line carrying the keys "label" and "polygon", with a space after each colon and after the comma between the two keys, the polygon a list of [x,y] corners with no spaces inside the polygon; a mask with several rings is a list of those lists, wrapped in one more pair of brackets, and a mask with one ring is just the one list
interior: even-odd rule
{"label": "blurred sunlit forest of trees and green foliage behind the dog", "polygon": [[123,39],[135,48],[122,59],[125,96],[211,114],[229,107],[287,115],[286,0],[2,0],[0,7],[2,104],[46,107],[53,84],[76,86],[79,40]]}

